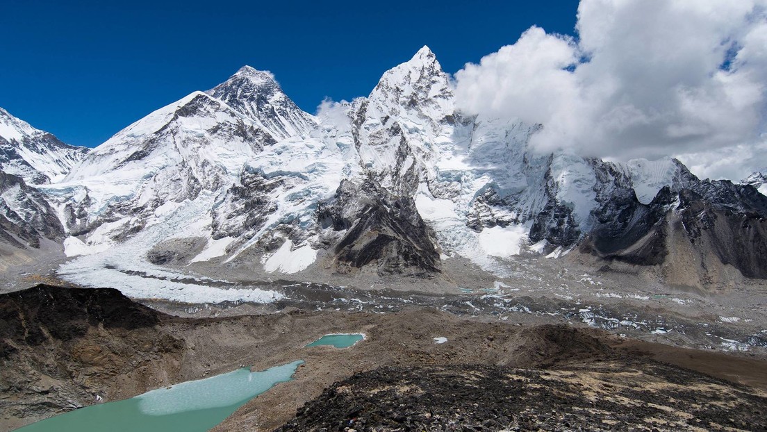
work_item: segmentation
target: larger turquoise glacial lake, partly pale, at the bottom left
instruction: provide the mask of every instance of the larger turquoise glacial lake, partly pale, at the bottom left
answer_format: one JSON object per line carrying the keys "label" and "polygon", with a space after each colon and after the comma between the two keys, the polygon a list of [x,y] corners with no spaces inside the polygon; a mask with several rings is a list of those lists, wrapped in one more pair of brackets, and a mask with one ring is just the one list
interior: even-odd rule
{"label": "larger turquoise glacial lake, partly pale, at the bottom left", "polygon": [[203,432],[275,384],[290,381],[303,361],[251,372],[242,368],[59,414],[21,432]]}

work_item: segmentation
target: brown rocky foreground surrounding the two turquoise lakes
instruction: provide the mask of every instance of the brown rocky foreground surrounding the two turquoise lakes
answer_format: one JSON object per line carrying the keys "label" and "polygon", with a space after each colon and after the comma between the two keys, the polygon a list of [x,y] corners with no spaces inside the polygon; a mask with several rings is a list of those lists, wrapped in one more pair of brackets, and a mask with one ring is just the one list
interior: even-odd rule
{"label": "brown rocky foreground surrounding the two turquoise lakes", "polygon": [[[0,430],[302,359],[216,430],[765,430],[767,361],[433,308],[178,318],[112,289],[0,295]],[[353,348],[304,348],[332,332]],[[444,344],[433,338],[443,337]]]}

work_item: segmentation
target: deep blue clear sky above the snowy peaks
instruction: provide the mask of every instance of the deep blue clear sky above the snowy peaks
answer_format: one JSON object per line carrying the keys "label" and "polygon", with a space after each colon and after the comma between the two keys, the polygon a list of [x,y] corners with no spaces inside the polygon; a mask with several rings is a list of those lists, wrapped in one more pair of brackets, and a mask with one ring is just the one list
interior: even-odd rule
{"label": "deep blue clear sky above the snowy peaks", "polygon": [[429,45],[453,73],[531,25],[574,33],[576,0],[67,2],[0,5],[0,107],[94,147],[135,120],[225,81],[272,71],[301,108],[367,95]]}

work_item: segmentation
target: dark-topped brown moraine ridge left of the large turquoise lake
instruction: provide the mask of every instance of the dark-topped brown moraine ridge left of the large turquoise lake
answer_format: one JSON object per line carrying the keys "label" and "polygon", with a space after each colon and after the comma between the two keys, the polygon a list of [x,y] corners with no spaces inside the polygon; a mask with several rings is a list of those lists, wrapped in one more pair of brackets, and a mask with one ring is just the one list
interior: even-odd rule
{"label": "dark-topped brown moraine ridge left of the large turquoise lake", "polygon": [[117,289],[37,285],[0,295],[0,424],[174,376],[184,342],[160,328],[163,318]]}

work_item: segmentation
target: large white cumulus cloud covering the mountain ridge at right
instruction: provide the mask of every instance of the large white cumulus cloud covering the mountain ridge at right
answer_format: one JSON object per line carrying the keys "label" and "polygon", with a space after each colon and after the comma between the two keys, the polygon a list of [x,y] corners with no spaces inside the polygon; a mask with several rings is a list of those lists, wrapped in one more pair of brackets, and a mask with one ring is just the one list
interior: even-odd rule
{"label": "large white cumulus cloud covering the mountain ridge at right", "polygon": [[581,0],[577,34],[532,27],[466,64],[459,108],[543,124],[547,152],[675,156],[736,180],[767,165],[767,0]]}

